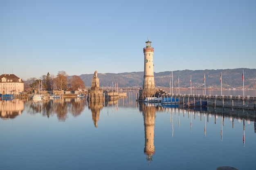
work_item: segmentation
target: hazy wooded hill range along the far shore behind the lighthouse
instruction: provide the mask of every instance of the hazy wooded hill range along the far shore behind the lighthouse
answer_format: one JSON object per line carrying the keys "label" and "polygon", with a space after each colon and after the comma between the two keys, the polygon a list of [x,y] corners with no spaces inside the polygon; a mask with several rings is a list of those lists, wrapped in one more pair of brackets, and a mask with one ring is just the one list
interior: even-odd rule
{"label": "hazy wooded hill range along the far shore behind the lighthouse", "polygon": [[[173,71],[173,87],[178,87],[178,77],[180,76],[180,87],[190,87],[190,75],[193,88],[204,88],[204,74],[206,87],[220,88],[220,72],[222,73],[222,88],[243,88],[242,73],[244,70],[245,88],[256,89],[256,69],[236,68],[223,70],[182,70]],[[94,74],[80,75],[85,82],[85,86],[92,85]],[[118,82],[118,87],[142,87],[144,72],[131,73],[98,73],[100,86],[112,86],[112,82]],[[171,71],[155,73],[156,87],[170,87],[169,82]]]}

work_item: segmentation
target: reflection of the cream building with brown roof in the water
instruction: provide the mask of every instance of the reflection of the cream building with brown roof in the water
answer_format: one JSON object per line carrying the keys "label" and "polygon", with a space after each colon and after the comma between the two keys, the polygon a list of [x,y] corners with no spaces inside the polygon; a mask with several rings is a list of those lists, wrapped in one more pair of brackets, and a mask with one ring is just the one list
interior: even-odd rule
{"label": "reflection of the cream building with brown roof in the water", "polygon": [[24,102],[20,99],[1,99],[0,117],[2,119],[13,119],[21,115],[24,110]]}

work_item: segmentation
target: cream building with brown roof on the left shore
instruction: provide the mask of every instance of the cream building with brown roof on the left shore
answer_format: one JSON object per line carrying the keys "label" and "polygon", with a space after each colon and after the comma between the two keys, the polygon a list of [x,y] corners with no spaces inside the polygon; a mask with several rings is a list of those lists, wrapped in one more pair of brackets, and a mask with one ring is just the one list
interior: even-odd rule
{"label": "cream building with brown roof on the left shore", "polygon": [[24,91],[24,82],[14,74],[0,75],[1,94],[19,94]]}

